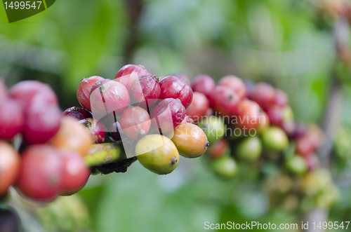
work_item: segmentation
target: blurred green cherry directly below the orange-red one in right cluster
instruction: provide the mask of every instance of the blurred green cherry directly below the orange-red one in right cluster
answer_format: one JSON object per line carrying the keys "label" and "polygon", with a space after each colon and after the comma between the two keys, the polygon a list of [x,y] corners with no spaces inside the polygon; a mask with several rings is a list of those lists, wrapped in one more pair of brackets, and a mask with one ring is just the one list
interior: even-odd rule
{"label": "blurred green cherry directly below the orange-red one in right cluster", "polygon": [[246,137],[238,142],[234,154],[245,161],[256,161],[262,153],[262,143],[258,137]]}

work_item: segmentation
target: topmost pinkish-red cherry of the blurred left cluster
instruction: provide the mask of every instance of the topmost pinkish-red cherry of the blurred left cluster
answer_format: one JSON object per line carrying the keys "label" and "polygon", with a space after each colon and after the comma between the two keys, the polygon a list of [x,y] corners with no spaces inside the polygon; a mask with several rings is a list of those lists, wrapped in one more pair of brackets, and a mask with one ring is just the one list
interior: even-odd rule
{"label": "topmost pinkish-red cherry of the blurred left cluster", "polygon": [[10,89],[10,97],[27,108],[34,103],[57,105],[58,98],[50,86],[39,81],[20,81]]}

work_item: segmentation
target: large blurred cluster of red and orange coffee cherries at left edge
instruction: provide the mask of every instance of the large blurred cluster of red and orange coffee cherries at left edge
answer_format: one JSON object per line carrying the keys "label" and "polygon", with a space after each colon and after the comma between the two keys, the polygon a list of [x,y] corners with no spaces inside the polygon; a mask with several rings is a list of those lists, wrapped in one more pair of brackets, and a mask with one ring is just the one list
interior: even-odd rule
{"label": "large blurred cluster of red and orange coffee cherries at left edge", "polygon": [[14,186],[25,198],[46,202],[84,186],[91,171],[83,156],[93,139],[74,118],[62,118],[48,85],[22,81],[8,90],[0,80],[0,109],[1,197]]}

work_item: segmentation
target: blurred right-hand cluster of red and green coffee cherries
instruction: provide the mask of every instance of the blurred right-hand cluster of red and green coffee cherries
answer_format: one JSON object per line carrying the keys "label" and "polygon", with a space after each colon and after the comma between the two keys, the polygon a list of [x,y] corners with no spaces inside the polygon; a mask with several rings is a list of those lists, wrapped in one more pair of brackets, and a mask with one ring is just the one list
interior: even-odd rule
{"label": "blurred right-hand cluster of red and green coffee cherries", "polygon": [[[178,75],[184,78],[184,74]],[[295,203],[307,199],[322,207],[335,202],[338,188],[329,170],[320,168],[315,154],[324,133],[317,125],[294,121],[286,93],[268,83],[242,81],[237,76],[224,76],[216,84],[206,75],[194,78],[192,90],[193,100],[186,113],[208,138],[206,163],[216,175],[232,179],[240,174],[241,166],[251,167],[272,183],[266,188],[272,199],[278,199],[276,189],[284,189],[277,179],[285,178],[291,186],[281,195],[289,202],[292,196],[298,199]],[[276,172],[264,175],[270,163]]]}

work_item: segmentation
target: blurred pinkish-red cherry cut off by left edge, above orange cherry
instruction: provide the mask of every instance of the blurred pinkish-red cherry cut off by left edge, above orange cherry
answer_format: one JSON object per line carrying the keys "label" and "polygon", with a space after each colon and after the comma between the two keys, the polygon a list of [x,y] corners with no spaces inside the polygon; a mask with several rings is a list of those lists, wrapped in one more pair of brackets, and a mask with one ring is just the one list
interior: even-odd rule
{"label": "blurred pinkish-red cherry cut off by left edge, above orange cherry", "polygon": [[0,100],[0,139],[12,139],[25,124],[21,105],[11,98]]}

